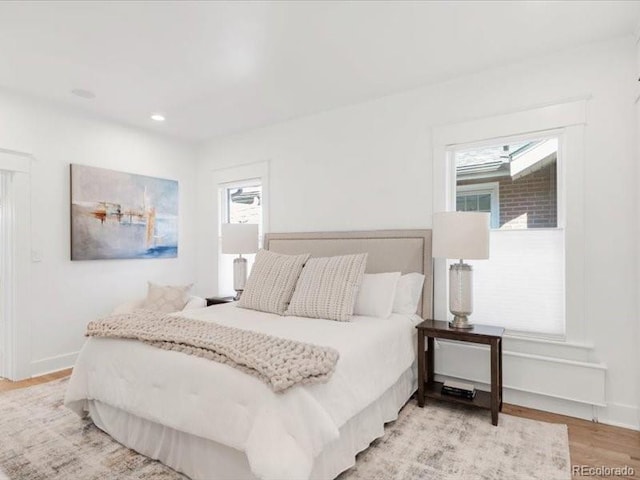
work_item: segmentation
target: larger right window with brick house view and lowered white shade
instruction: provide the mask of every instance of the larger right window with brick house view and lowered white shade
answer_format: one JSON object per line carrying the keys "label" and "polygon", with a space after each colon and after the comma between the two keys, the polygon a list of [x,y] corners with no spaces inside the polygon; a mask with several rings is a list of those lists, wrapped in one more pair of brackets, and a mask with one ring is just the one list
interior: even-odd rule
{"label": "larger right window with brick house view and lowered white shade", "polygon": [[512,332],[565,333],[559,136],[452,150],[455,208],[491,213],[489,260],[474,268],[473,321]]}

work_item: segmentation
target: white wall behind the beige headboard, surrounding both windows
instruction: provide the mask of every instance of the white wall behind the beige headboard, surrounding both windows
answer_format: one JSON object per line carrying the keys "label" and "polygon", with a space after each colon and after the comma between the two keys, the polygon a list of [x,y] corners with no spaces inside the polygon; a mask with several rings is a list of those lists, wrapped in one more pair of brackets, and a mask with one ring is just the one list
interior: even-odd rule
{"label": "white wall behind the beige headboard, surrounding both windows", "polygon": [[634,85],[634,41],[621,38],[213,139],[198,173],[200,286],[216,293],[215,169],[270,161],[272,232],[424,228],[439,181],[432,127],[591,95],[583,241],[594,348],[586,360],[607,366],[600,420],[637,428]]}

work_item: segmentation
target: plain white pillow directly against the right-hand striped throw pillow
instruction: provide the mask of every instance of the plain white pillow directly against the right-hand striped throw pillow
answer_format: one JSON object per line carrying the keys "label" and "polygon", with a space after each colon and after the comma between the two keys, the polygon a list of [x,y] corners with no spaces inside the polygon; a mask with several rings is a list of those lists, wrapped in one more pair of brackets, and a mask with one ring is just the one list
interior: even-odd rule
{"label": "plain white pillow directly against the right-hand striped throw pillow", "polygon": [[400,272],[365,273],[356,297],[354,315],[387,318],[391,315]]}

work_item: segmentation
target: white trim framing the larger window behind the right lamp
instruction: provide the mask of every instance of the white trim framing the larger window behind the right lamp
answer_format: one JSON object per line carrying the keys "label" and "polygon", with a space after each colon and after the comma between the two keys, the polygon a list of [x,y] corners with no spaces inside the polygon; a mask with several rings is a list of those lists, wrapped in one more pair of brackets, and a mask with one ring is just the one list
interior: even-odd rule
{"label": "white trim framing the larger window behind the right lamp", "polygon": [[[584,128],[587,123],[588,98],[496,115],[433,129],[433,211],[455,208],[456,171],[453,149],[458,145],[492,144],[498,138],[526,135],[539,138],[551,131],[562,132],[564,161],[558,176],[558,226],[565,227],[565,337],[564,341],[584,343],[586,321],[585,246],[584,246]],[[562,171],[560,171],[562,170]],[[571,182],[566,182],[566,171]],[[447,315],[446,260],[434,260],[434,314]]]}

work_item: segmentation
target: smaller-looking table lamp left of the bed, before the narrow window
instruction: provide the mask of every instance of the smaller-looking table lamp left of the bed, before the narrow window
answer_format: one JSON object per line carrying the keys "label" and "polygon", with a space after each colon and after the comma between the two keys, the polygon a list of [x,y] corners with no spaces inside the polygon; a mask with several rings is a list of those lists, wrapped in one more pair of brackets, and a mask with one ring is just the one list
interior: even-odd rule
{"label": "smaller-looking table lamp left of the bed, before the narrow window", "polygon": [[242,255],[258,251],[258,224],[223,223],[222,253],[238,255],[233,260],[233,289],[239,300],[247,281],[247,259]]}

